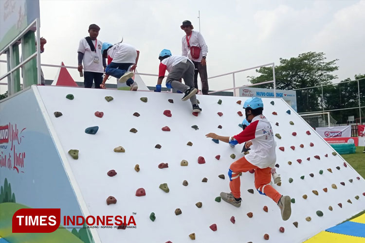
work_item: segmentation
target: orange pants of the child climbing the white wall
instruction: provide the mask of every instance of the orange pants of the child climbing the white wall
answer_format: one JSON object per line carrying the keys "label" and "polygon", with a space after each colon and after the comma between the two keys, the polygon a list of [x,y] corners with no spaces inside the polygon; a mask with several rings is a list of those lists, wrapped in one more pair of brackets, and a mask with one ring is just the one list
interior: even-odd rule
{"label": "orange pants of the child climbing the white wall", "polygon": [[[233,162],[230,166],[230,176],[231,181],[229,182],[229,187],[231,188],[232,194],[234,197],[240,197],[240,186],[241,181],[239,179],[240,172],[248,172],[249,170],[255,169],[255,187],[260,194],[264,194],[275,201],[275,203],[279,202],[281,194],[277,192],[271,185],[271,168],[260,169],[256,165],[251,164],[247,161],[245,157],[241,157],[240,159]],[[231,172],[232,171],[232,172]]]}

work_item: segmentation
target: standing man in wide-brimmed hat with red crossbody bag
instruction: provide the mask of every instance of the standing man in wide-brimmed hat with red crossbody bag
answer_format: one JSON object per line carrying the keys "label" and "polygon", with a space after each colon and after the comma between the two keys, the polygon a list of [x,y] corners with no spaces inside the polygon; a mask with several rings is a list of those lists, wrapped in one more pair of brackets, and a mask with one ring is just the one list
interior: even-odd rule
{"label": "standing man in wide-brimmed hat with red crossbody bag", "polygon": [[194,27],[189,20],[183,21],[180,28],[186,33],[183,36],[183,56],[189,57],[195,66],[194,87],[198,89],[198,73],[201,79],[201,92],[208,94],[208,74],[206,72],[206,55],[208,47],[200,32],[193,31]]}

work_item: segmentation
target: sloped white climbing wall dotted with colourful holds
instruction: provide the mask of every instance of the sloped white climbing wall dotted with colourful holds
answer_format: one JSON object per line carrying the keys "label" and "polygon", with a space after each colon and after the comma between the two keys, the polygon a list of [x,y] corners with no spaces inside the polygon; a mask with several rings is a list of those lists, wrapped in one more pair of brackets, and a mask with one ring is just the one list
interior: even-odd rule
{"label": "sloped white climbing wall dotted with colourful holds", "polygon": [[[244,114],[245,98],[198,96],[203,111],[194,116],[190,103],[181,101],[181,94],[37,89],[51,118],[49,125],[60,141],[63,151],[59,153],[79,151],[78,159],[67,154],[64,163],[70,165],[73,186],[81,191],[90,214],[134,216],[136,228],[98,228],[101,242],[181,243],[191,242],[192,233],[195,242],[201,243],[260,243],[266,242],[265,234],[271,242],[303,242],[365,209],[365,180],[281,99],[263,102],[264,115],[276,134],[276,170],[282,179],[281,185],[274,187],[292,197],[288,221],[281,219],[274,201],[258,194],[251,173],[241,176],[240,208],[217,198],[221,191],[230,191],[227,171],[243,156],[242,145],[231,148],[205,134],[233,136],[241,132],[238,124],[244,117],[237,112]],[[66,98],[68,94],[73,94],[72,100]],[[239,100],[241,104],[237,104]],[[62,116],[56,118],[54,112]],[[102,117],[95,112],[103,112]],[[94,133],[93,126],[98,126],[96,134],[85,132],[89,128],[87,132]],[[166,185],[160,189],[164,183],[168,192],[162,190]],[[146,195],[136,196],[141,188]]]}

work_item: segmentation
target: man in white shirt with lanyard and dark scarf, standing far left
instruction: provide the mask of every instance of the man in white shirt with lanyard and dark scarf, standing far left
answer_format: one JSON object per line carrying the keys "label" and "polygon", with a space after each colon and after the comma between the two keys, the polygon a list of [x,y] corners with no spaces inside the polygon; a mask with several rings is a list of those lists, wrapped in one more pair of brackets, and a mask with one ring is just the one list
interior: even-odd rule
{"label": "man in white shirt with lanyard and dark scarf, standing far left", "polygon": [[[104,67],[107,66],[101,54],[103,42],[96,38],[99,31],[99,26],[91,24],[88,31],[90,36],[82,38],[77,49],[77,70],[82,73],[82,69],[84,69],[84,86],[86,88],[91,88],[92,82],[95,83],[95,88],[100,88],[103,81]],[[82,66],[82,63],[84,63],[84,66]]]}

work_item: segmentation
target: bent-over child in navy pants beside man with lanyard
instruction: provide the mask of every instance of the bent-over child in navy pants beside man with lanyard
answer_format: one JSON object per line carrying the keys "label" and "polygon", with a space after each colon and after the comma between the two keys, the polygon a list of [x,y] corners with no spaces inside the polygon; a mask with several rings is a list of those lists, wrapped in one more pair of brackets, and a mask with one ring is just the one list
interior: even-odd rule
{"label": "bent-over child in navy pants beside man with lanyard", "polygon": [[108,66],[105,69],[104,79],[100,87],[105,88],[108,77],[113,76],[118,79],[118,89],[120,89],[120,84],[126,83],[130,90],[137,90],[138,85],[132,77],[133,71],[137,68],[139,51],[126,43],[112,45],[104,42],[101,53],[103,58],[108,58]]}

